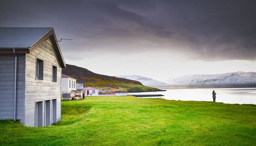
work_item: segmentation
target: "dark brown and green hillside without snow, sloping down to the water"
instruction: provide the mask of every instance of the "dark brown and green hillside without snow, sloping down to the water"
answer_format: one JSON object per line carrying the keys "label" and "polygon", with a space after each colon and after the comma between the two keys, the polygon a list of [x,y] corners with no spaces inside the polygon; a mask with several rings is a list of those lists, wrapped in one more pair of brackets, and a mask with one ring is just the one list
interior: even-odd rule
{"label": "dark brown and green hillside without snow, sloping down to the water", "polygon": [[[111,77],[102,74],[96,74],[82,67],[66,64],[62,70],[63,74],[77,79],[77,83],[83,83],[84,86],[94,86],[99,89],[114,89],[119,92],[152,92],[161,91],[156,88],[143,86],[135,80],[128,80],[119,77]],[[122,89],[118,89],[122,87]]]}

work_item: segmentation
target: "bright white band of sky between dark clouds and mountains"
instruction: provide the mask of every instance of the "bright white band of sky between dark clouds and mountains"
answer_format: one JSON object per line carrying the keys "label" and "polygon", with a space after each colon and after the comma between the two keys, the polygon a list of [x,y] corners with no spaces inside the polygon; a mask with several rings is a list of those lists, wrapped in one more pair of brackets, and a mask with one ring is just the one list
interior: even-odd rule
{"label": "bright white band of sky between dark clouds and mountains", "polygon": [[165,53],[97,55],[96,52],[92,52],[85,54],[80,61],[66,59],[66,63],[76,64],[76,66],[84,67],[98,74],[110,76],[136,74],[160,81],[192,74],[223,74],[238,71],[256,72],[256,61],[228,60],[205,62],[187,60]]}

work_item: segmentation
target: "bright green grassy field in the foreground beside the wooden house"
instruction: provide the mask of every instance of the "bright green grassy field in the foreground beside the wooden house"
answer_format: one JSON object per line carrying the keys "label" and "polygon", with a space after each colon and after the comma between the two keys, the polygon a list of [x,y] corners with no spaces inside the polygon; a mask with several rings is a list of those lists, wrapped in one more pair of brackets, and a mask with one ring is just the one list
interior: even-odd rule
{"label": "bright green grassy field in the foreground beside the wooden house", "polygon": [[255,146],[256,106],[88,97],[63,101],[54,126],[0,121],[0,146]]}

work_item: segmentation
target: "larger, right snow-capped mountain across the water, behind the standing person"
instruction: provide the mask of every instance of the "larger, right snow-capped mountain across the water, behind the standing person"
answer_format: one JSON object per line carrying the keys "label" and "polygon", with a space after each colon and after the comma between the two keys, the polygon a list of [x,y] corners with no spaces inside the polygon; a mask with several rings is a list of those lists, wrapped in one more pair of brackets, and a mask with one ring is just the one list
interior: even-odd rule
{"label": "larger, right snow-capped mountain across the water, behind the standing person", "polygon": [[171,86],[256,86],[256,72],[187,75],[170,80]]}

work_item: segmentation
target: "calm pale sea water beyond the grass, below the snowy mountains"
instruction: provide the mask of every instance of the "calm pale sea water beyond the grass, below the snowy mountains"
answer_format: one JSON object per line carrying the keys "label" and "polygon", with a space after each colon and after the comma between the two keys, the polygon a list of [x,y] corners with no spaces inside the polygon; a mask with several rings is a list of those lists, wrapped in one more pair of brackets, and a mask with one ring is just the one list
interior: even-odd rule
{"label": "calm pale sea water beyond the grass, below the snowy mountains", "polygon": [[[165,92],[141,92],[129,94],[163,94],[167,100],[213,101],[212,90],[215,90],[216,102],[256,104],[256,88],[220,88],[220,89],[167,89]],[[153,98],[153,97],[152,97]]]}

